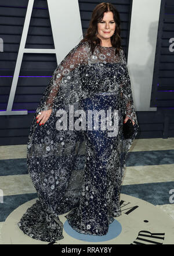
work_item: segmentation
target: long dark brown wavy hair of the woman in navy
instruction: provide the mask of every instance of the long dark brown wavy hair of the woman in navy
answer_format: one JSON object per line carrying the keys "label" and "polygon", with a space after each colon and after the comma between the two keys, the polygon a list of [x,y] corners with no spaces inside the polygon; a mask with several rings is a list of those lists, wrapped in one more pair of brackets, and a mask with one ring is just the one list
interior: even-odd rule
{"label": "long dark brown wavy hair of the woman in navy", "polygon": [[[93,9],[92,17],[90,19],[88,30],[86,31],[86,34],[84,35],[84,38],[81,40],[81,42],[88,41],[90,45],[90,49],[93,51],[96,47],[96,45],[99,45],[101,47],[102,40],[100,40],[99,37],[97,37],[97,23],[99,23],[104,16],[104,12],[113,12],[113,17],[115,21],[115,31],[114,34],[111,37],[111,44],[113,47],[115,47],[115,55],[119,53],[119,50],[121,47],[121,37],[120,37],[120,17],[118,10],[115,9],[115,7],[111,3],[99,3]],[[101,48],[100,48],[101,50]]]}

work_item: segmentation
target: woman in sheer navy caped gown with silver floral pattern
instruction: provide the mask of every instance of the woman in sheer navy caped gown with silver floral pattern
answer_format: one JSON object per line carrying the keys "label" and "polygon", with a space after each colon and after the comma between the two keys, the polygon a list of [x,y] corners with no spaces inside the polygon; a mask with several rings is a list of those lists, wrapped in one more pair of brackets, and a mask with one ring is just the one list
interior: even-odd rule
{"label": "woman in sheer navy caped gown with silver floral pattern", "polygon": [[[57,66],[35,113],[27,165],[38,200],[18,223],[34,239],[63,239],[61,214],[77,232],[98,236],[121,215],[125,159],[139,126],[119,24],[113,5],[96,6],[85,38]],[[105,130],[102,115],[96,129],[88,111],[110,113]],[[134,133],[126,139],[128,119]]]}

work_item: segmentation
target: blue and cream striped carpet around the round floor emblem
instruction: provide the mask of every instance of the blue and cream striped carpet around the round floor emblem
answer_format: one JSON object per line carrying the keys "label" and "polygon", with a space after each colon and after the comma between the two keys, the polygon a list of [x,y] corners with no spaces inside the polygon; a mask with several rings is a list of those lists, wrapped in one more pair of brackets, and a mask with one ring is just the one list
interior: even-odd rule
{"label": "blue and cream striped carpet around the round floor emblem", "polygon": [[[27,145],[0,146],[0,244],[6,218],[37,198],[27,173],[26,149]],[[135,140],[126,163],[121,193],[160,208],[174,227],[174,138]]]}

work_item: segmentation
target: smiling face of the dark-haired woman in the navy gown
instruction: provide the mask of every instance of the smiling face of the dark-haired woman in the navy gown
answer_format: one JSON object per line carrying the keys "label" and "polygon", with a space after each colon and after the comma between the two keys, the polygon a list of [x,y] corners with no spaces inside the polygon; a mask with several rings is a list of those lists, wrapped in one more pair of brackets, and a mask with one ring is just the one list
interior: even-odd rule
{"label": "smiling face of the dark-haired woman in the navy gown", "polygon": [[104,12],[103,19],[97,23],[97,37],[101,40],[106,40],[114,34],[114,31],[115,21],[113,12]]}

